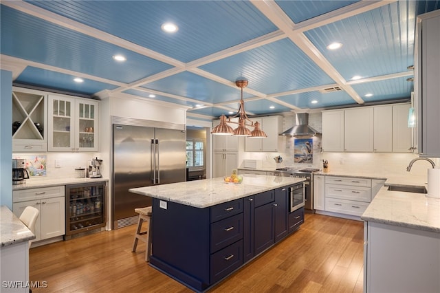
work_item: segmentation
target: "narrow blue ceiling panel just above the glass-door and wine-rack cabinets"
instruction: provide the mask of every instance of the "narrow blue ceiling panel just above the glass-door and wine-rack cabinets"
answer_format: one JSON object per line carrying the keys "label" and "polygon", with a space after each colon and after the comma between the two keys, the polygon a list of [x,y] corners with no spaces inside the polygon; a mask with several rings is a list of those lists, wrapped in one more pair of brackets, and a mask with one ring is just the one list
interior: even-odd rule
{"label": "narrow blue ceiling panel just above the glass-door and wine-rack cabinets", "polygon": [[83,78],[83,83],[75,83],[74,78],[76,77],[77,76],[28,66],[23,70],[20,76],[14,80],[14,82],[22,85],[34,85],[37,87],[58,89],[61,91],[69,91],[72,94],[84,94],[88,96],[93,96],[98,91],[104,89],[111,90],[116,88],[115,85],[100,83],[85,78]]}

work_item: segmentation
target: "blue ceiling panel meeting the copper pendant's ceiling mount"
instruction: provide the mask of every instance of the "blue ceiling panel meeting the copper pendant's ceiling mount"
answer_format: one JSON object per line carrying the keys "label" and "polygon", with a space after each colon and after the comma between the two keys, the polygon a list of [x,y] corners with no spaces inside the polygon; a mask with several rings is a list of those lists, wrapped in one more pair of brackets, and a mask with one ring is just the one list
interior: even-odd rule
{"label": "blue ceiling panel meeting the copper pendant's ceiling mount", "polygon": [[203,65],[201,69],[228,80],[243,76],[249,80],[248,87],[263,94],[334,83],[289,39]]}

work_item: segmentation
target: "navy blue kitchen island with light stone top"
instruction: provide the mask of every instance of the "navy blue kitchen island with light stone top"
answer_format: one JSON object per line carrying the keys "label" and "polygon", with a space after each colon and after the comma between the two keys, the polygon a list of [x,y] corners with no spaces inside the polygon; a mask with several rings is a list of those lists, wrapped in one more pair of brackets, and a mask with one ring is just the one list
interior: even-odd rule
{"label": "navy blue kitchen island with light stone top", "polygon": [[203,292],[298,230],[304,208],[290,213],[289,188],[303,179],[244,175],[131,188],[153,197],[151,266]]}

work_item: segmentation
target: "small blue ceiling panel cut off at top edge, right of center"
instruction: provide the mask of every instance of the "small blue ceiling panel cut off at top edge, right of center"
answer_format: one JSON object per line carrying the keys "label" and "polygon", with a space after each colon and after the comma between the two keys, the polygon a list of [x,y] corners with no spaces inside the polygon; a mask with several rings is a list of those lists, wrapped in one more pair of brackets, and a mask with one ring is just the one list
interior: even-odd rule
{"label": "small blue ceiling panel cut off at top edge, right of center", "polygon": [[300,23],[301,21],[306,21],[307,19],[312,19],[318,17],[321,14],[331,12],[342,8],[344,6],[349,6],[358,1],[275,1],[278,6],[283,9],[285,14],[287,14],[294,23]]}

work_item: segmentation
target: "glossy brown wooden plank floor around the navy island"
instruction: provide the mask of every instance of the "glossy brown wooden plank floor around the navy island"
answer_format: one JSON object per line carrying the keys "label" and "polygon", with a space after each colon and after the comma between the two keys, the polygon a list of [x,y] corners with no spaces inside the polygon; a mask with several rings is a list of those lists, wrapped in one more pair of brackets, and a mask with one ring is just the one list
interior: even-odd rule
{"label": "glossy brown wooden plank floor around the navy island", "polygon": [[[192,292],[131,252],[135,225],[30,250],[38,292]],[[362,292],[363,224],[306,214],[293,235],[209,292]],[[153,248],[154,250],[154,248]]]}

